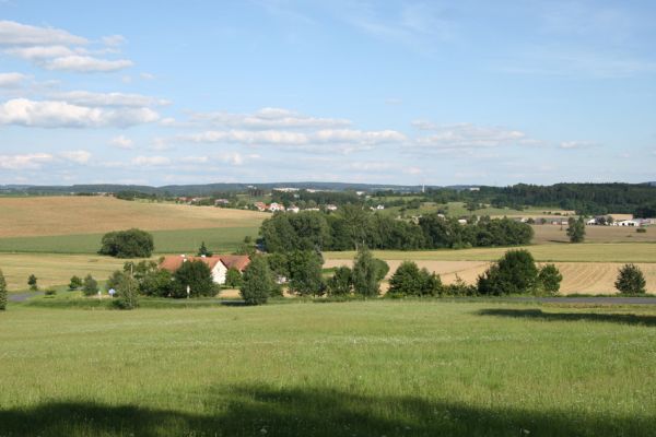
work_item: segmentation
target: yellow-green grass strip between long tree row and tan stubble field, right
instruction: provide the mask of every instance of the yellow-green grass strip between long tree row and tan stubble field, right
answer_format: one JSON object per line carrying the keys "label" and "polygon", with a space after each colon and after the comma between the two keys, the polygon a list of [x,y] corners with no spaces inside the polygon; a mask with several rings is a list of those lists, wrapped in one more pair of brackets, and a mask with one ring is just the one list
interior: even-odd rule
{"label": "yellow-green grass strip between long tree row and tan stubble field, right", "polygon": [[[537,261],[543,262],[656,262],[656,245],[652,243],[550,244],[461,250],[374,250],[374,255],[388,260],[494,261],[512,249],[527,249]],[[324,252],[326,259],[351,259],[354,257],[354,251]]]}

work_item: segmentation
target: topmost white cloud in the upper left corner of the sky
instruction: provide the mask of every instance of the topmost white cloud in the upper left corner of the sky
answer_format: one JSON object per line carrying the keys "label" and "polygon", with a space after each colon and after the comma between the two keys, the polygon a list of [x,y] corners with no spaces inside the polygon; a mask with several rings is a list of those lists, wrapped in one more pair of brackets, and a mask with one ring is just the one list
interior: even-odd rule
{"label": "topmost white cloud in the upper left corner of the sky", "polygon": [[13,21],[0,21],[0,45],[52,46],[84,45],[86,38],[54,27],[37,27]]}

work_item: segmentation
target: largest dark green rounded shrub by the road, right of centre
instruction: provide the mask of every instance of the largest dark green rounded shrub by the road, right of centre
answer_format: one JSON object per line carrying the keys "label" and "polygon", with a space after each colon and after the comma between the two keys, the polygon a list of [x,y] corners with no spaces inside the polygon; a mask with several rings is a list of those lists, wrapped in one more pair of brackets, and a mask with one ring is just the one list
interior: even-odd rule
{"label": "largest dark green rounded shrub by the road, right of centre", "polygon": [[501,296],[504,294],[535,293],[538,268],[528,250],[508,250],[503,258],[478,277],[478,293]]}

